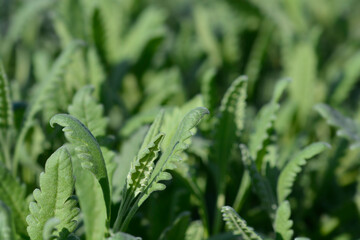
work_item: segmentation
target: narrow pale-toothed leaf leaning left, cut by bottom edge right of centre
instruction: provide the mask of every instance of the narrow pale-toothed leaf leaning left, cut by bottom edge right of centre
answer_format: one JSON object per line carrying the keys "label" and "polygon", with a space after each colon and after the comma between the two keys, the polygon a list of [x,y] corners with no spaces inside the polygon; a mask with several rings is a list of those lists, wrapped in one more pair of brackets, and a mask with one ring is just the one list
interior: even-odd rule
{"label": "narrow pale-toothed leaf leaning left, cut by bottom edge right of centre", "polygon": [[236,235],[241,235],[244,240],[262,240],[262,238],[247,225],[232,207],[225,206],[221,209],[226,226]]}

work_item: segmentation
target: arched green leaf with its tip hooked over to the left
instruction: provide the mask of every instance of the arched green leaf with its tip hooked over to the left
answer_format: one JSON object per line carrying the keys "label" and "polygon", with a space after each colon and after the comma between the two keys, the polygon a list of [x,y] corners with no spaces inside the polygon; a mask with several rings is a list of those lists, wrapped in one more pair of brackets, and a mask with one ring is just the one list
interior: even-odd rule
{"label": "arched green leaf with its tip hooked over to the left", "polygon": [[99,181],[106,204],[107,217],[110,218],[110,186],[108,174],[99,144],[91,132],[75,117],[57,114],[50,119],[50,125],[57,123],[64,127],[66,139],[75,148],[81,166],[92,172]]}

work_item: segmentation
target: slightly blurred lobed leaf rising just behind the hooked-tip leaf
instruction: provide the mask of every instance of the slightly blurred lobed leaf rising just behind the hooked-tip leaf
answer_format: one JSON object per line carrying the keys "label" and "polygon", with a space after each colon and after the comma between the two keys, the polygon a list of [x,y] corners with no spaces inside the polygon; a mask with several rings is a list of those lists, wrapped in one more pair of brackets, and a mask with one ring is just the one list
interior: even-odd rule
{"label": "slightly blurred lobed leaf rising just behind the hooked-tip leaf", "polygon": [[103,116],[103,106],[91,96],[93,90],[92,86],[81,88],[75,94],[68,111],[82,122],[94,137],[99,137],[105,135],[107,119]]}

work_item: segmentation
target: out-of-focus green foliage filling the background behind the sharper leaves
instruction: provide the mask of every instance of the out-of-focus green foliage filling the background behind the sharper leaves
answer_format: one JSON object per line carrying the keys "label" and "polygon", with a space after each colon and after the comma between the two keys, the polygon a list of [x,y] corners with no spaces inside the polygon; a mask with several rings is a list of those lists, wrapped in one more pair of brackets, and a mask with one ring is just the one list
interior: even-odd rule
{"label": "out-of-focus green foliage filling the background behind the sharper leaves", "polygon": [[[200,127],[200,140],[194,140],[189,150],[201,185],[209,181],[203,176],[209,171],[206,160],[213,120],[233,80],[240,75],[249,79],[241,136],[246,143],[253,119],[271,99],[275,83],[288,77],[291,83],[273,128],[279,161],[314,141],[332,145],[309,161],[298,177],[290,198],[294,231],[312,239],[360,237],[360,151],[356,147],[360,1],[0,0],[0,59],[9,78],[18,130],[39,86],[48,81],[56,57],[75,39],[83,47],[58,76],[61,84],[49,92],[53,101],[34,118],[24,141],[26,154],[19,156],[24,166],[31,166],[22,167],[20,173],[29,193],[45,159],[60,144],[59,131],[51,130],[48,120],[66,112],[74,94],[85,85],[94,86],[95,98],[104,105],[110,145],[120,157],[126,155],[124,146],[131,145],[131,136],[141,134],[141,126],[151,123],[161,107],[181,107],[201,94],[202,105],[211,114]],[[345,138],[337,136],[314,109],[318,103],[353,119],[348,120],[355,130]],[[243,171],[239,152],[231,156],[226,180],[230,205]],[[205,185],[200,188],[212,209],[216,194]],[[193,219],[199,218],[190,196],[181,178],[174,177],[166,191],[140,209],[129,232],[158,239],[181,211],[189,210]],[[169,202],[177,207],[160,208]],[[240,215],[267,234],[271,224],[259,205],[256,196],[250,195]]]}

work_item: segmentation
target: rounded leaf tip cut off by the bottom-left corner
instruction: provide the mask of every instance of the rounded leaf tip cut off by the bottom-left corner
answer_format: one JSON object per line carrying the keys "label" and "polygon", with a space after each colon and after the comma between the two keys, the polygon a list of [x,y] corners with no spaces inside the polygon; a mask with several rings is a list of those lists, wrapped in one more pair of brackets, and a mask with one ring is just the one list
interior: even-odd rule
{"label": "rounded leaf tip cut off by the bottom-left corner", "polygon": [[15,240],[15,225],[11,210],[0,201],[0,239]]}

